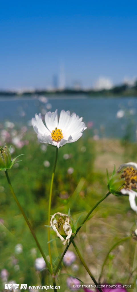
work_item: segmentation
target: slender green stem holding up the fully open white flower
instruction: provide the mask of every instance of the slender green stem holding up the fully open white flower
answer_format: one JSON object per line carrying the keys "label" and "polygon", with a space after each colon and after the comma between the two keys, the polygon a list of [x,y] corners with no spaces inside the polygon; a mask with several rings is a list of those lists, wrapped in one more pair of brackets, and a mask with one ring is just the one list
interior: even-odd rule
{"label": "slender green stem holding up the fully open white flower", "polygon": [[[54,180],[54,174],[57,164],[57,154],[58,154],[58,148],[56,148],[56,157],[55,157],[55,164],[52,172],[52,178],[51,178],[51,184],[50,184],[50,197],[49,197],[49,205],[48,205],[48,225],[50,226],[50,210],[51,210],[51,198],[52,198],[52,187],[53,187],[53,180]],[[50,227],[48,227],[48,241],[50,241]],[[51,249],[50,249],[50,242],[48,243],[48,251],[50,256],[50,265],[52,267],[52,257],[51,257]]]}

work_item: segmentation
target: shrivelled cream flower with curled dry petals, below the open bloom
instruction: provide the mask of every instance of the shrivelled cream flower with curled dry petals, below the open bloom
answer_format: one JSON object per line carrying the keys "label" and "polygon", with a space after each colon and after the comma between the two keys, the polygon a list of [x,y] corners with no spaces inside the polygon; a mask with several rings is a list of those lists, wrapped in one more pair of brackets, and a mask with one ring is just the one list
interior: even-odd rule
{"label": "shrivelled cream flower with curled dry petals, below the open bloom", "polygon": [[[60,217],[58,219],[54,219],[55,215],[57,215],[57,214],[60,215]],[[57,236],[61,239],[61,241],[63,241],[62,242],[63,244],[66,244],[67,241],[69,243],[69,239],[70,239],[71,234],[72,234],[72,229],[71,229],[71,225],[69,224],[69,220],[70,219],[69,219],[68,215],[60,213],[60,212],[57,212],[54,215],[52,215],[51,220],[50,220],[50,227],[53,228],[53,230],[56,232]],[[67,235],[66,239],[64,239],[64,237],[57,230],[57,227],[59,228],[61,225],[63,226],[63,230],[64,230],[65,234]]]}

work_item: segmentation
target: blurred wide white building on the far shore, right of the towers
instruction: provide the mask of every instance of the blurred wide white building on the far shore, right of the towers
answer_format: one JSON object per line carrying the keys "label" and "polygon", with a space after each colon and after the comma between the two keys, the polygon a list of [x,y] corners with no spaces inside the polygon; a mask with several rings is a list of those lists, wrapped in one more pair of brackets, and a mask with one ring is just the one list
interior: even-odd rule
{"label": "blurred wide white building on the far shore, right of the towers", "polygon": [[99,77],[99,79],[94,84],[95,90],[111,89],[113,84],[111,80],[107,77]]}

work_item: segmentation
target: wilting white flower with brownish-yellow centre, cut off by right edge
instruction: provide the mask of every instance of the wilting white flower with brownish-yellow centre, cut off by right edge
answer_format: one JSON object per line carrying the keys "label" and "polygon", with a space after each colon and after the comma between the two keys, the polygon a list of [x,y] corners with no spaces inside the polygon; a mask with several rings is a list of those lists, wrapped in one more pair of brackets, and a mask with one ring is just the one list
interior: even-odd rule
{"label": "wilting white flower with brownish-yellow centre, cut off by right edge", "polygon": [[121,177],[125,179],[126,183],[123,185],[123,188],[120,191],[123,195],[125,194],[129,195],[130,206],[137,213],[136,206],[137,192],[134,191],[137,190],[137,163],[135,162],[123,163],[120,165],[117,172],[120,172],[123,167],[125,169]]}

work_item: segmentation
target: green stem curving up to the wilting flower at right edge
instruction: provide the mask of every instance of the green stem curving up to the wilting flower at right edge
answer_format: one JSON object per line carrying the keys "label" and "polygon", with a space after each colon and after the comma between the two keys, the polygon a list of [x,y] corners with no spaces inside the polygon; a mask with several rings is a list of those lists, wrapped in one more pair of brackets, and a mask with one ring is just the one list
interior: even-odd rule
{"label": "green stem curving up to the wilting flower at right edge", "polygon": [[[104,200],[104,199],[106,199],[107,197],[108,197],[108,195],[109,194],[111,194],[110,192],[108,192],[103,198],[101,198],[94,206],[93,206],[93,208],[89,211],[89,213],[86,215],[86,217],[84,218],[84,220],[82,221],[82,225],[85,223],[85,221],[87,220],[87,218],[89,217],[89,215],[94,211],[94,209]],[[80,225],[80,227],[78,227],[77,228],[77,230],[76,230],[76,232],[75,232],[75,235],[78,233],[78,231],[80,230],[80,228],[81,228],[82,226]],[[59,262],[58,262],[58,264],[57,264],[57,267],[56,267],[56,270],[55,270],[55,272],[54,272],[54,275],[56,275],[57,274],[57,271],[58,271],[58,269],[59,269],[59,267],[60,267],[60,264],[61,264],[61,262],[62,262],[62,260],[63,260],[63,258],[64,258],[64,255],[65,255],[65,253],[66,253],[66,251],[68,250],[68,247],[70,246],[70,244],[71,244],[71,241],[72,241],[72,239],[73,239],[73,236],[72,236],[72,238],[70,239],[70,241],[69,241],[69,244],[67,244],[67,246],[66,246],[66,248],[65,248],[65,250],[64,250],[64,252],[62,253],[62,256],[61,256],[61,258],[60,258],[60,260],[59,260]]]}

